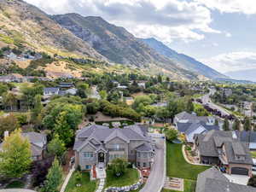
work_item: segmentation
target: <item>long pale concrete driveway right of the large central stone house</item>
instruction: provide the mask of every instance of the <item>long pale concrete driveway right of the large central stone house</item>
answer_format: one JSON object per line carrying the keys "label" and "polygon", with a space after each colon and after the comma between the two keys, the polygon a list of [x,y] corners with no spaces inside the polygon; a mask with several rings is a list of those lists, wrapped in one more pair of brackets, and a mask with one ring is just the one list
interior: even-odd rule
{"label": "long pale concrete driveway right of the large central stone house", "polygon": [[140,192],[159,192],[164,184],[166,177],[165,165],[165,143],[166,140],[159,137],[153,138],[156,143],[154,164],[152,166],[147,183]]}

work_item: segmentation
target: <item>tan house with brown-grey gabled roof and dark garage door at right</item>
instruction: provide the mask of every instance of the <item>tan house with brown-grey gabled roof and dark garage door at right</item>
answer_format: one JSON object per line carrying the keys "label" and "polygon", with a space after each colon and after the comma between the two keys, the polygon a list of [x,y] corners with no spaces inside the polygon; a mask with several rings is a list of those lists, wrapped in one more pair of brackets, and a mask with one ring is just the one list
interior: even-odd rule
{"label": "tan house with brown-grey gabled roof and dark garage door at right", "polygon": [[253,159],[247,143],[235,131],[208,131],[195,135],[195,154],[202,164],[219,166],[229,174],[252,176]]}

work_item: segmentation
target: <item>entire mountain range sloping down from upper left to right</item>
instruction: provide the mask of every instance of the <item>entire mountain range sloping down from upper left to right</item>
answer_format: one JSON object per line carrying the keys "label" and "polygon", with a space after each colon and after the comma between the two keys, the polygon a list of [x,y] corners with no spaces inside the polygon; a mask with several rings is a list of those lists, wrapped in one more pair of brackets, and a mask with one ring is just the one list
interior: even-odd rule
{"label": "entire mountain range sloping down from upper left to right", "polygon": [[27,47],[54,55],[77,55],[165,73],[172,79],[227,78],[154,38],[139,39],[101,17],[47,15],[20,0],[0,0],[0,48]]}

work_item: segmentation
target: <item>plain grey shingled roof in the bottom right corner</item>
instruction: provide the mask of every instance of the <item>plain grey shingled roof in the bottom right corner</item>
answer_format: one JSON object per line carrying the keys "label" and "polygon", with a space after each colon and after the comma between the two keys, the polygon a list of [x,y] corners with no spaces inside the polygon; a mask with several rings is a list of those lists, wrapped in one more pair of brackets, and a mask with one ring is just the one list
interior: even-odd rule
{"label": "plain grey shingled roof in the bottom right corner", "polygon": [[256,188],[231,183],[222,172],[212,167],[198,175],[195,192],[256,192]]}

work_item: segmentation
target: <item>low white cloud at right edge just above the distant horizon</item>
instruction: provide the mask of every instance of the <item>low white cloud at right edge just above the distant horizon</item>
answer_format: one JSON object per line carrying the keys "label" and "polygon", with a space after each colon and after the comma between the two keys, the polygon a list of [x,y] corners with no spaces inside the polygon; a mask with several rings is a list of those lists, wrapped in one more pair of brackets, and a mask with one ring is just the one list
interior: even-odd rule
{"label": "low white cloud at right edge just above the distant horizon", "polygon": [[256,52],[232,52],[202,59],[201,61],[221,73],[255,69]]}

